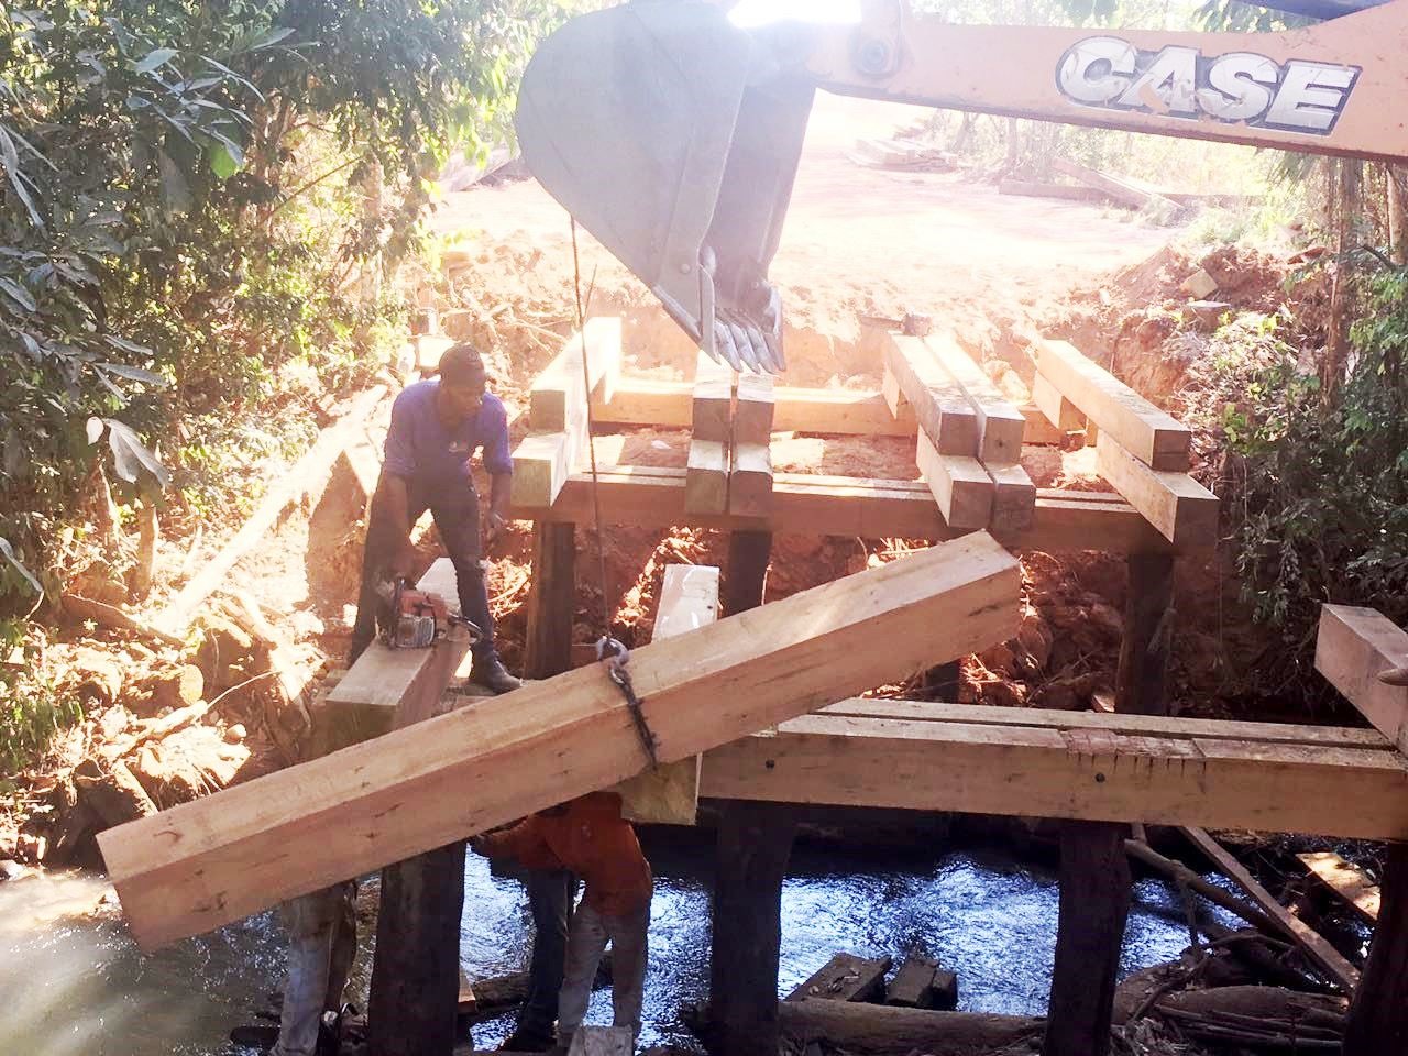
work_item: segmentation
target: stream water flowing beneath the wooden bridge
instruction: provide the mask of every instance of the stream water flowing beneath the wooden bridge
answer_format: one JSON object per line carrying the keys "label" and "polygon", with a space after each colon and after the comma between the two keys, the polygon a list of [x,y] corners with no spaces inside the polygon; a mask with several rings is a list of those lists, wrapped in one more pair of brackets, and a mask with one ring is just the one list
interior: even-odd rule
{"label": "stream water flowing beneath the wooden bridge", "polygon": [[[703,843],[652,842],[658,888],[643,1043],[686,1036],[679,1008],[708,977],[708,855]],[[84,915],[106,891],[93,877],[0,883],[0,1052],[31,1056],[234,1056],[231,1026],[253,1022],[280,983],[282,935],[270,914],[144,956],[111,915]],[[980,852],[838,855],[798,848],[783,893],[786,993],[834,952],[903,955],[922,946],[959,973],[960,1007],[1045,1011],[1056,938],[1055,876]],[[1145,880],[1125,935],[1122,972],[1187,942],[1181,904]],[[522,888],[470,856],[460,935],[470,977],[527,963]],[[365,995],[366,950],[353,987]],[[596,994],[591,1021],[610,1022]],[[507,1017],[474,1028],[496,1045]]]}

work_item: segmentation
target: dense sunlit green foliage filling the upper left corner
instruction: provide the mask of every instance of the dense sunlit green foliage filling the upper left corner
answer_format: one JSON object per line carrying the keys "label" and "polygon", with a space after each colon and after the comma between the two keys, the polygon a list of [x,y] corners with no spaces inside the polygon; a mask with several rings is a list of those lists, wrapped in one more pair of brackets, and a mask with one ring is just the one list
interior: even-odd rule
{"label": "dense sunlit green foliage filling the upper left corner", "polygon": [[161,452],[180,500],[215,505],[213,466],[244,453],[213,452],[238,442],[225,422],[304,438],[303,406],[375,372],[427,175],[505,135],[558,17],[552,0],[0,7],[0,534],[17,558],[45,565],[96,459],[151,483]]}

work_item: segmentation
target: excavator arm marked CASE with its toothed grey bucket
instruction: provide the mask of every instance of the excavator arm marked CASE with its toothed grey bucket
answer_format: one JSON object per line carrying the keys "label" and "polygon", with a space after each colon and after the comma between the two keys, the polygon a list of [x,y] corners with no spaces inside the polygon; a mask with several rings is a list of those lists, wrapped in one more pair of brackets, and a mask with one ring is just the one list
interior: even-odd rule
{"label": "excavator arm marked CASE with its toothed grey bucket", "polygon": [[1408,0],[1269,34],[953,25],[912,14],[905,0],[860,8],[848,25],[745,30],[703,0],[638,0],[573,18],[524,75],[517,121],[528,168],[735,369],[784,367],[767,269],[818,87],[1408,159]]}

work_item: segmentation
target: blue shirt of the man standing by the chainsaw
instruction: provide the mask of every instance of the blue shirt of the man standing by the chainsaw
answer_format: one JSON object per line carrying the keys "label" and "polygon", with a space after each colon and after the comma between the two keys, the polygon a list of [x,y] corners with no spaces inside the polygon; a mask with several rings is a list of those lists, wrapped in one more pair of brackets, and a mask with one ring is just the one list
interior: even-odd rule
{"label": "blue shirt of the man standing by the chainsaw", "polygon": [[508,452],[508,413],[493,393],[484,393],[479,413],[453,429],[435,414],[439,379],[417,382],[391,404],[391,427],[386,434],[384,470],[393,476],[422,482],[469,480],[469,463],[483,448],[484,469],[498,476],[513,473]]}

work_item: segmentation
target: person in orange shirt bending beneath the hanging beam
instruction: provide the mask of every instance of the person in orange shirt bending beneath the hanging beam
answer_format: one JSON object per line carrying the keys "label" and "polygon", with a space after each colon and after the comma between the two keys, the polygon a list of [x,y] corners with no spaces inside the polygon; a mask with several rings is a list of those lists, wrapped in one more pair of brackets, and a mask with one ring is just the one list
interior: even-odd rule
{"label": "person in orange shirt bending beneath the hanging beam", "polygon": [[596,791],[534,814],[470,846],[489,857],[514,857],[529,869],[567,869],[586,891],[567,925],[567,960],[558,1001],[558,1048],[572,1046],[591,997],[601,955],[611,945],[612,1025],[641,1033],[646,932],[655,883],[621,797]]}

